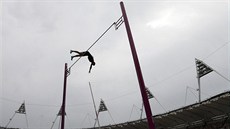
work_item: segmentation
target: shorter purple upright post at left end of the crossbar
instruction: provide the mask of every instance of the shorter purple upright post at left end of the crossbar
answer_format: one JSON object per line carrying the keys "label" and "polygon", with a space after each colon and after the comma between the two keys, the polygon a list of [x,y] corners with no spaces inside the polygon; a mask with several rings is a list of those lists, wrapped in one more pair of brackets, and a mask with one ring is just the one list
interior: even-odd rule
{"label": "shorter purple upright post at left end of the crossbar", "polygon": [[65,63],[65,71],[64,71],[64,86],[63,86],[63,99],[62,99],[62,111],[61,111],[61,129],[65,128],[65,100],[66,100],[66,82],[67,82],[67,63]]}

